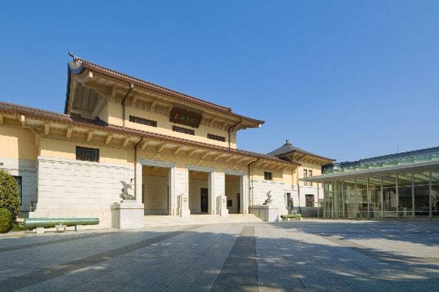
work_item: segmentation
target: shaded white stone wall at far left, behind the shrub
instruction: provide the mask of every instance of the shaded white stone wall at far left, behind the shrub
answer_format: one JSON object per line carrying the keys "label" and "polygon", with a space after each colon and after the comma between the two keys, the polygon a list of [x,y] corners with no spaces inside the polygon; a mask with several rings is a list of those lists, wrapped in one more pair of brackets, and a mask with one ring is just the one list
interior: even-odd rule
{"label": "shaded white stone wall at far left, behind the shrub", "polygon": [[36,161],[0,157],[0,169],[21,176],[21,212],[29,212],[30,202],[36,201]]}

